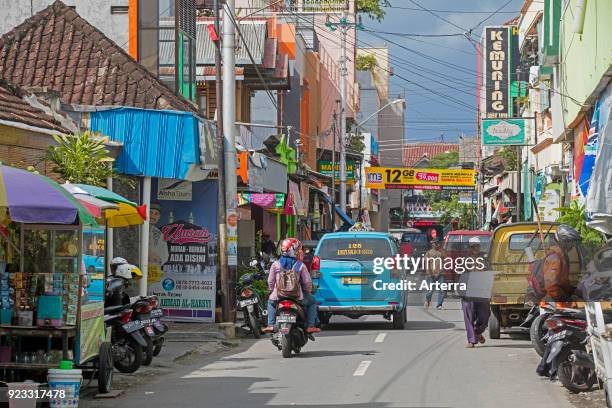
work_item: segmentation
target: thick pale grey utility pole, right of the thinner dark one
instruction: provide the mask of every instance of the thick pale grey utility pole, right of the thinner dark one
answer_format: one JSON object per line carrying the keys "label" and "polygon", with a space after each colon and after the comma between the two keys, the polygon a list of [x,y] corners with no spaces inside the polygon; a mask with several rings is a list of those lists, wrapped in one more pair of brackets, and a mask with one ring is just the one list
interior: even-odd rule
{"label": "thick pale grey utility pole, right of the thinner dark one", "polygon": [[225,160],[225,224],[227,227],[227,265],[221,276],[223,291],[223,321],[233,321],[231,315],[235,291],[238,249],[238,216],[236,213],[236,77],[235,77],[235,0],[226,0],[223,7],[223,139]]}

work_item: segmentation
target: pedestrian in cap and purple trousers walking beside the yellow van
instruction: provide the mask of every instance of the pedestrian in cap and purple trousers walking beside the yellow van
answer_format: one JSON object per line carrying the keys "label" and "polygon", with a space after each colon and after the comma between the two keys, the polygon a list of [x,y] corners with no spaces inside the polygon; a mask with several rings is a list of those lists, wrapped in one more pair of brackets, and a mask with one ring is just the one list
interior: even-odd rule
{"label": "pedestrian in cap and purple trousers walking beside the yellow van", "polygon": [[[480,239],[472,237],[469,241],[470,254],[472,259],[481,257]],[[467,284],[469,274],[479,273],[478,269],[466,271],[459,277],[459,282]],[[489,317],[491,316],[491,306],[488,300],[470,299],[464,293],[461,296],[461,309],[463,309],[463,320],[465,322],[465,331],[467,334],[467,348],[474,348],[476,344],[484,344],[485,338],[482,335],[489,325]]]}

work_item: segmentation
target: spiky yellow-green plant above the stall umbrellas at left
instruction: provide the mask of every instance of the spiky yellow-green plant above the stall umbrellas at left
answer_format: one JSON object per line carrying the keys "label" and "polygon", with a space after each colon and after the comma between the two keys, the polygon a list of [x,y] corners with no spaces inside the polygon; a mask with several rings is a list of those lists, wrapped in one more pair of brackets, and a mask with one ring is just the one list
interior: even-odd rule
{"label": "spiky yellow-green plant above the stall umbrellas at left", "polygon": [[57,146],[49,146],[47,159],[55,164],[53,171],[71,183],[104,186],[113,176],[114,161],[104,147],[104,141],[89,131],[53,138]]}

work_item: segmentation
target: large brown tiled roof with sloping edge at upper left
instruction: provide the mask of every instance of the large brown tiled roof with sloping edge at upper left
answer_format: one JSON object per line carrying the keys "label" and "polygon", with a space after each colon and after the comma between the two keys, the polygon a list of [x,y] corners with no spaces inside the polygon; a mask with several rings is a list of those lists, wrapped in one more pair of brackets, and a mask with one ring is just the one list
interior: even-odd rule
{"label": "large brown tiled roof with sloping edge at upper left", "polygon": [[0,37],[0,78],[67,104],[196,111],[59,0]]}

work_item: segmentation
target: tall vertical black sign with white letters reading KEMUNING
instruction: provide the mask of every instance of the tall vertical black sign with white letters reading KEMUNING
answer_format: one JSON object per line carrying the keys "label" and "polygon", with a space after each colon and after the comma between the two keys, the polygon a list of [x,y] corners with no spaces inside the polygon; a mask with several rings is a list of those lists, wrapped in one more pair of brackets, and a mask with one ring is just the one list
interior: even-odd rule
{"label": "tall vertical black sign with white letters reading KEMUNING", "polygon": [[485,108],[488,119],[512,116],[511,81],[511,27],[485,28]]}

